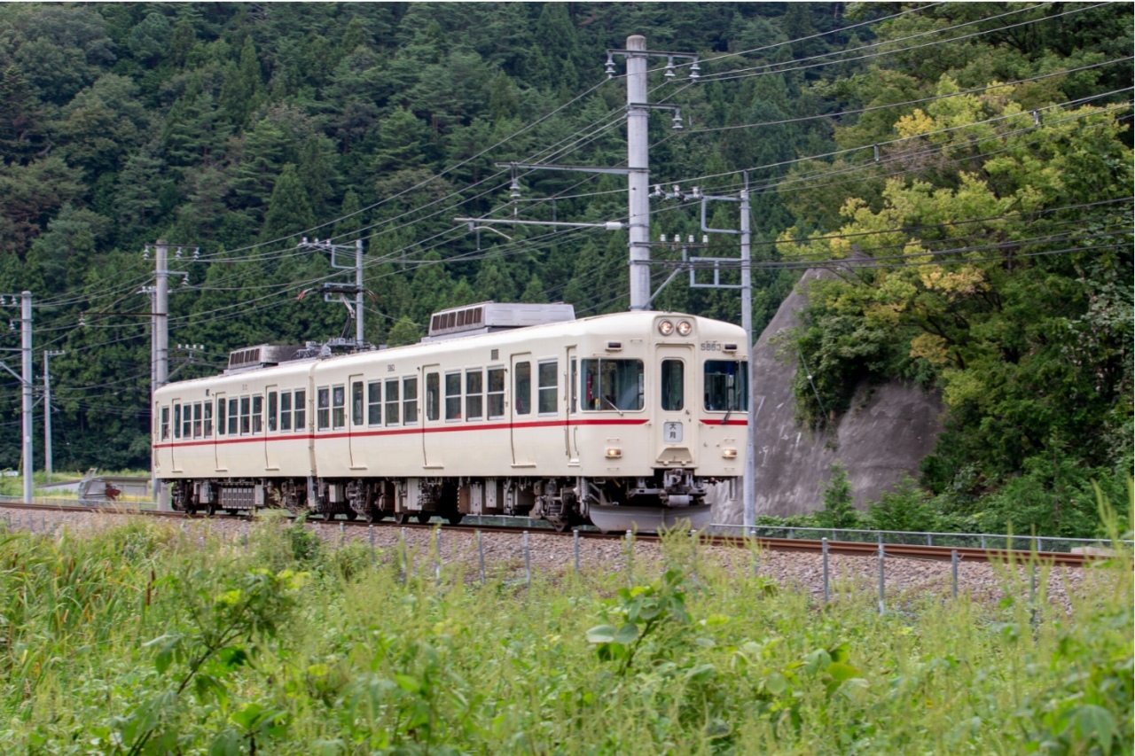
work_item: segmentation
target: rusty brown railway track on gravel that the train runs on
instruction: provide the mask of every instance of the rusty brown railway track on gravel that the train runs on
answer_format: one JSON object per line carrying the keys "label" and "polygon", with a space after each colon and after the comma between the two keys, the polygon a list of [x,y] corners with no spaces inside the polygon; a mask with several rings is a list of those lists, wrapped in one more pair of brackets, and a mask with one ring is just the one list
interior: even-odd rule
{"label": "rusty brown railway track on gravel that the train runs on", "polygon": [[[132,509],[125,505],[117,506],[67,506],[67,505],[47,505],[47,504],[26,504],[26,503],[0,503],[0,509],[8,510],[25,510],[25,511],[39,511],[39,512],[59,512],[59,513],[91,513],[91,512],[102,512],[108,514],[140,514],[144,516],[159,516],[159,518],[173,518],[173,519],[185,519],[184,512],[163,512],[157,510],[142,510]],[[224,515],[218,519],[228,519],[234,515]],[[239,519],[246,519],[243,515],[235,515]],[[343,528],[365,528],[373,524],[377,528],[405,528],[412,530],[432,530],[438,527],[437,523],[404,523],[397,524],[395,522],[375,522],[368,523],[361,520],[317,520],[311,519],[308,522],[314,523],[317,526],[340,526]],[[563,536],[563,537],[574,537],[572,531],[556,532],[555,530],[548,528],[515,528],[515,527],[504,527],[504,526],[488,526],[488,524],[464,524],[464,526],[442,526],[446,530],[480,530],[486,534],[507,534],[518,535],[524,530],[531,532],[539,532],[540,535],[550,536]],[[624,535],[620,534],[603,534],[596,530],[579,530],[580,538],[586,538],[590,540],[621,540],[625,538]],[[634,539],[640,543],[657,543],[661,540],[658,536],[654,535],[636,535]],[[747,548],[751,545],[753,539],[740,538],[737,536],[706,536],[705,543],[713,546],[729,546]],[[797,552],[797,553],[808,553],[815,554],[823,549],[823,541],[821,540],[808,540],[802,538],[757,538],[756,543],[762,548],[767,548],[776,552]],[[957,547],[951,548],[949,546],[925,546],[925,545],[911,545],[911,544],[883,544],[882,548],[888,557],[898,558],[913,558],[913,560],[926,560],[926,561],[941,561],[949,562],[953,558],[953,553],[957,553],[958,560],[962,562],[1025,562],[1032,558],[1033,552],[1019,551],[1019,549],[1004,549],[1004,548],[965,548]],[[865,556],[865,557],[877,557],[880,553],[878,544],[865,544],[856,541],[829,541],[827,553],[833,555],[842,556]],[[1092,554],[1069,554],[1065,552],[1036,552],[1036,558],[1043,562],[1050,562],[1052,564],[1065,565],[1065,566],[1083,566],[1093,560],[1103,558],[1101,555]]]}

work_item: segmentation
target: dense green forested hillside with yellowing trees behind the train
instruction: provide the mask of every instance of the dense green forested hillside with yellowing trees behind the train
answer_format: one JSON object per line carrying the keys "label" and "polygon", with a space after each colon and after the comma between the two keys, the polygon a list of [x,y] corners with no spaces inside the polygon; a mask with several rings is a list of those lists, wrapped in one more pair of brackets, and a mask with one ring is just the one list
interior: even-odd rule
{"label": "dense green forested hillside with yellowing trees behind the train", "polygon": [[[653,179],[735,193],[748,171],[756,326],[799,269],[855,261],[785,344],[812,368],[801,425],[861,380],[941,388],[927,490],[961,514],[1011,492],[1082,531],[1088,481],[1132,460],[1132,20],[1126,3],[0,6],[0,292],[32,291],[37,353],[66,351],[56,468],[148,465],[137,313],[158,238],[197,250],[171,255],[170,344],[205,353],[175,348],[176,378],[339,335],[342,305],[297,299],[334,278],[301,236],[365,240],[376,344],[480,300],[624,309],[625,234],[453,218],[624,218],[620,176],[526,171],[513,202],[494,163],[620,165],[604,64],[641,33],[703,58],[696,83],[651,60],[651,100],[684,120],[651,116]],[[711,225],[735,228],[720,207]],[[656,238],[700,235],[695,205],[654,210]],[[684,282],[655,305],[739,320],[735,292]],[[19,390],[0,381],[16,467]]]}

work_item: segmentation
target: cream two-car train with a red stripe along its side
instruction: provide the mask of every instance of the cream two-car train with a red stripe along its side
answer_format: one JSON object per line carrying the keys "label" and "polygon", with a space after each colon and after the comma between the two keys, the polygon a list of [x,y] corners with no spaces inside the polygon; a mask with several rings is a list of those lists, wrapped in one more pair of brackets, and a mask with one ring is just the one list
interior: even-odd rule
{"label": "cream two-car train with a red stripe along its side", "polygon": [[480,302],[417,344],[338,346],[235,350],[158,388],[173,509],[657,531],[708,524],[707,492],[743,469],[748,348],[729,322]]}

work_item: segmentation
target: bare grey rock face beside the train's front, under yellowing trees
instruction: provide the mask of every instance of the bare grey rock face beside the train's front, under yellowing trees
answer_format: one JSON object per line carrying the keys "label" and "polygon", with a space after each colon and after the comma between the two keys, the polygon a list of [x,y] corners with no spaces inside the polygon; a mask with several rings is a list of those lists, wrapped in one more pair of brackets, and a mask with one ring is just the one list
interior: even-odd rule
{"label": "bare grey rock face beside the train's front, under yellowing trees", "polygon": [[[757,390],[757,514],[802,514],[823,507],[829,465],[848,469],[856,503],[867,502],[893,486],[903,473],[914,476],[931,453],[941,430],[941,397],[916,386],[890,383],[860,386],[851,409],[818,431],[796,422],[791,384],[797,363],[776,356],[772,339],[799,325],[808,284],[834,274],[809,270],[781,303],[750,356]],[[720,486],[711,496],[714,522],[741,522],[741,485]]]}

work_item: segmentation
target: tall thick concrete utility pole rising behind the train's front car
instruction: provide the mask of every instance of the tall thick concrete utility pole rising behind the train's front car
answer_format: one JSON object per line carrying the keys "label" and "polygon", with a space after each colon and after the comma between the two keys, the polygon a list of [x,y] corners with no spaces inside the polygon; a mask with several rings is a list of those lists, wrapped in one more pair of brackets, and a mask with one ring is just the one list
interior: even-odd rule
{"label": "tall thick concrete utility pole rising behind the train's front car", "polygon": [[631,310],[650,299],[650,110],[646,107],[646,37],[627,37],[627,190],[630,219]]}

